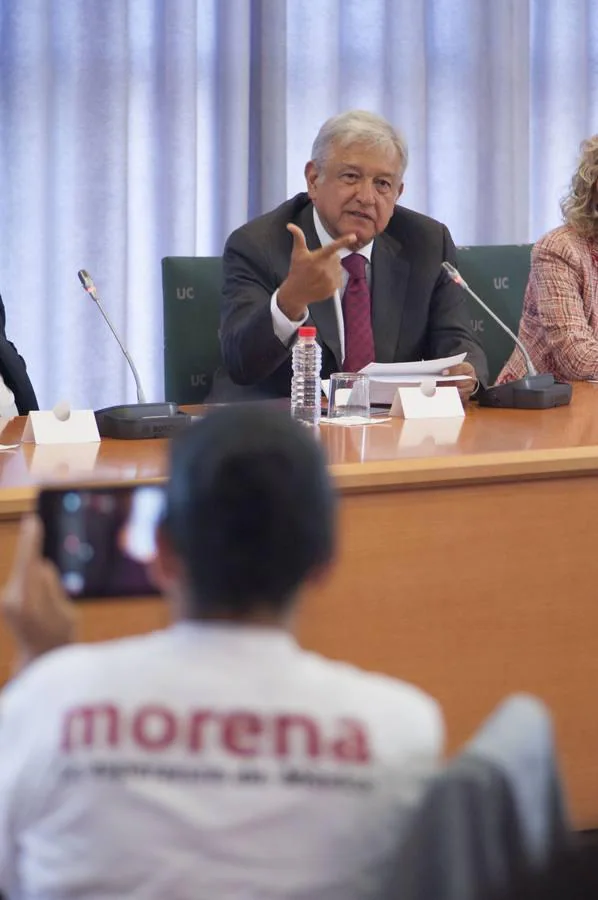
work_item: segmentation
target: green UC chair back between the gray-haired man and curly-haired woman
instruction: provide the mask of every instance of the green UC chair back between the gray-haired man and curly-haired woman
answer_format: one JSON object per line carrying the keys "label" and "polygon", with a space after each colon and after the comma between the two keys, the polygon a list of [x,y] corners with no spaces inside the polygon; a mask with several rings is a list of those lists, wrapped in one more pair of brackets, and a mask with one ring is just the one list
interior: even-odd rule
{"label": "green UC chair back between the gray-haired man and curly-haired woman", "polygon": [[[531,244],[459,247],[459,271],[471,289],[517,334],[530,269]],[[511,338],[471,297],[471,327],[488,358],[490,384],[514,349]]]}

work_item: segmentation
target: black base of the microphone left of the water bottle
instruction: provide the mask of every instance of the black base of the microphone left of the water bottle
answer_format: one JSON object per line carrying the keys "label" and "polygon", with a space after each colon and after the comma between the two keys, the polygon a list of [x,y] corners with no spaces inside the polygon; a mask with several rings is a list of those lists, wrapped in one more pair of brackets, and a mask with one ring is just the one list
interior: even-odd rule
{"label": "black base of the microphone left of the water bottle", "polygon": [[193,421],[176,403],[132,403],[107,406],[94,413],[101,437],[119,440],[169,438]]}

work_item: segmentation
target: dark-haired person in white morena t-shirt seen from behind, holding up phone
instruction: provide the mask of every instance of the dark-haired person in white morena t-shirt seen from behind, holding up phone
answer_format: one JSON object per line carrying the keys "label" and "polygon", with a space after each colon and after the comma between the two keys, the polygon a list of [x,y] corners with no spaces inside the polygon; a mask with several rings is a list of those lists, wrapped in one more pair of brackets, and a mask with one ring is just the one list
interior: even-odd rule
{"label": "dark-haired person in white morena t-shirt seen from behind, holding up phone", "polygon": [[292,636],[334,542],[313,434],[253,406],[173,444],[154,564],[165,630],[59,647],[73,609],[26,523],[4,595],[21,671],[0,707],[1,891],[376,896],[443,724],[418,688]]}

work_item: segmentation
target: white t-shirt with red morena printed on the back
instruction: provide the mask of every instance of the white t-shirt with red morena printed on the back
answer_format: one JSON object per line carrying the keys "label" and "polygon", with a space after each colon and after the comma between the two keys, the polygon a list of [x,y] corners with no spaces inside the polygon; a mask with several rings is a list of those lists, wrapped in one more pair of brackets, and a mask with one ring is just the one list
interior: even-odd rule
{"label": "white t-shirt with red morena printed on the back", "polygon": [[423,691],[277,629],[57,650],[0,698],[0,891],[364,900],[442,744]]}

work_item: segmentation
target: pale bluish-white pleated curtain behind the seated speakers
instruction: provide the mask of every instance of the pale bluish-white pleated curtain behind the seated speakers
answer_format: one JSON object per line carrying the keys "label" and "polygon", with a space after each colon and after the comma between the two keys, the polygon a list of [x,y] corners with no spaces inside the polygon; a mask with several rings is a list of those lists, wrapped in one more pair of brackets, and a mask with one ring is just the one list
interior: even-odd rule
{"label": "pale bluish-white pleated curtain behind the seated speakers", "polygon": [[160,399],[160,259],[302,189],[322,121],[407,136],[405,204],[459,244],[556,225],[596,130],[595,0],[0,0],[0,292],[44,406]]}

